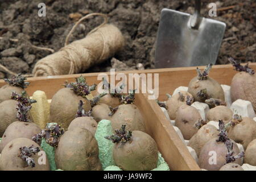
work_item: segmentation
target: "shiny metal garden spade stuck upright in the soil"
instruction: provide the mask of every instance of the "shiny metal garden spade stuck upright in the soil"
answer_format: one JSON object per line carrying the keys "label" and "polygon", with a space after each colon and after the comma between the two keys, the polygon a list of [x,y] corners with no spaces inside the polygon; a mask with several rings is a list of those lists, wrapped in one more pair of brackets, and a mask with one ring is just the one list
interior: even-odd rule
{"label": "shiny metal garden spade stuck upright in the soil", "polygon": [[201,1],[193,15],[163,9],[156,39],[155,67],[215,64],[226,24],[201,17]]}

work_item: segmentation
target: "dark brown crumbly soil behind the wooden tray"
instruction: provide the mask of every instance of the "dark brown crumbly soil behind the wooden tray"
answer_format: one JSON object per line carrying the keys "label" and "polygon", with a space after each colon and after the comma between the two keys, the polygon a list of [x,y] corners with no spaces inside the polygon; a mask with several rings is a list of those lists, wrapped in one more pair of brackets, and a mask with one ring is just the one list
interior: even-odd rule
{"label": "dark brown crumbly soil behind the wooden tray", "polygon": [[[46,17],[38,16],[38,4],[47,5]],[[202,1],[201,14],[209,18],[207,5]],[[214,1],[217,11],[213,19],[226,23],[217,64],[227,64],[228,57],[255,61],[256,55],[256,2],[245,0]],[[105,13],[109,22],[122,31],[126,39],[123,51],[115,55],[128,68],[136,69],[141,63],[145,69],[154,68],[156,32],[160,11],[163,8],[193,13],[193,1],[184,0],[1,0],[0,2],[0,63],[13,72],[31,73],[36,61],[51,54],[34,46],[58,51],[64,46],[65,38],[73,24],[89,13]],[[101,24],[100,17],[85,20],[73,33],[70,42],[82,39],[92,28]],[[10,39],[18,39],[15,42]],[[30,44],[31,43],[31,44]],[[87,72],[109,71],[113,60],[88,69]],[[0,72],[0,77],[10,77]]]}

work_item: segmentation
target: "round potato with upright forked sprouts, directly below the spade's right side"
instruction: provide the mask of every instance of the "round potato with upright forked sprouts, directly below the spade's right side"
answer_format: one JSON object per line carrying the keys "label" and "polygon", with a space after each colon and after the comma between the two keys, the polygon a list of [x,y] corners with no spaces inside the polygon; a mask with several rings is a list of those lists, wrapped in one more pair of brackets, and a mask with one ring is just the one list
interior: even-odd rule
{"label": "round potato with upright forked sprouts, directly below the spade's right side", "polygon": [[208,76],[211,67],[212,65],[209,64],[203,73],[197,69],[198,76],[192,78],[189,82],[188,92],[192,94],[194,101],[204,102],[208,98],[217,98],[225,101],[221,85]]}

